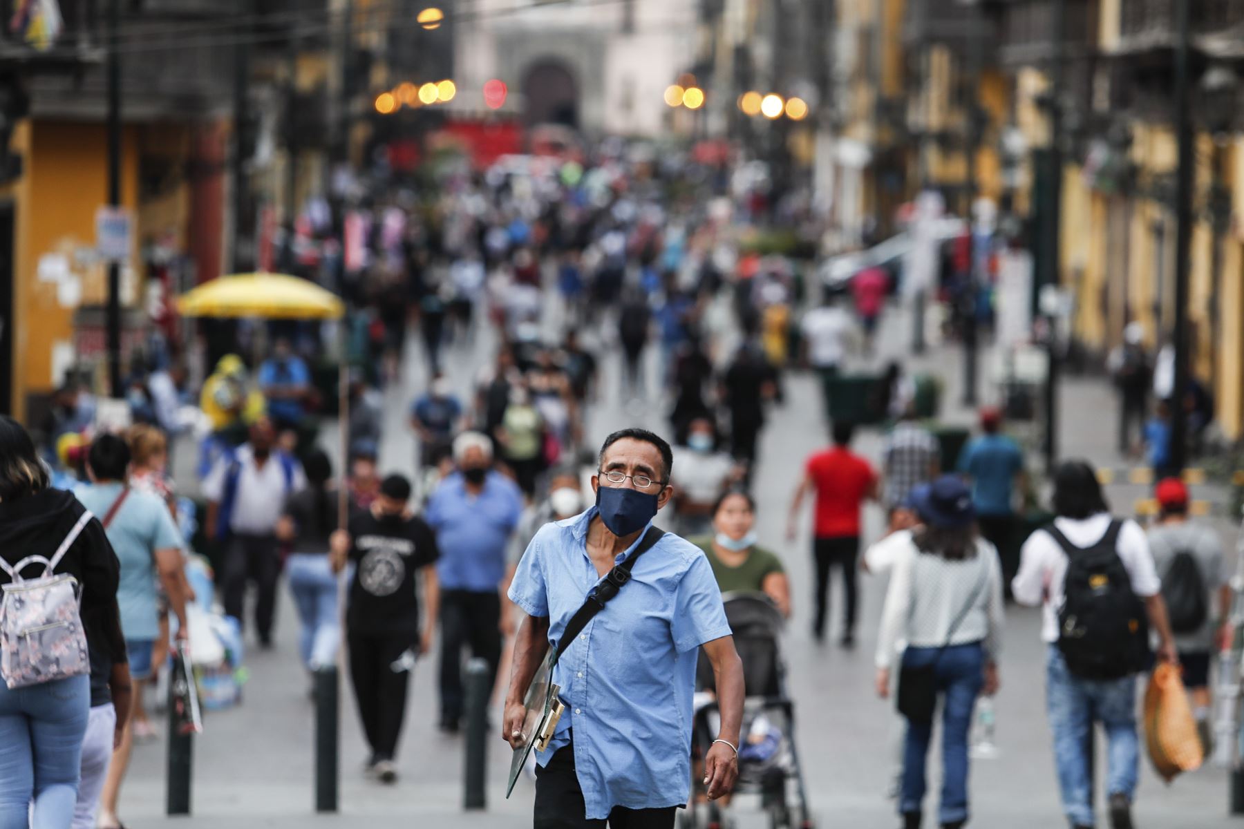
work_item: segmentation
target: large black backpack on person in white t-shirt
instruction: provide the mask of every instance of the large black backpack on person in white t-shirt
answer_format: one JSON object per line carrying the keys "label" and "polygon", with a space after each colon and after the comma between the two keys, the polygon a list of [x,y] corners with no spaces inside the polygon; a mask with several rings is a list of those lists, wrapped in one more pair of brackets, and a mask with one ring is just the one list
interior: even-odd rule
{"label": "large black backpack on person in white t-shirt", "polygon": [[1082,679],[1117,680],[1149,662],[1144,603],[1118,557],[1118,521],[1092,547],[1081,549],[1050,524],[1045,528],[1067,554],[1065,599],[1059,608],[1059,650],[1067,669]]}

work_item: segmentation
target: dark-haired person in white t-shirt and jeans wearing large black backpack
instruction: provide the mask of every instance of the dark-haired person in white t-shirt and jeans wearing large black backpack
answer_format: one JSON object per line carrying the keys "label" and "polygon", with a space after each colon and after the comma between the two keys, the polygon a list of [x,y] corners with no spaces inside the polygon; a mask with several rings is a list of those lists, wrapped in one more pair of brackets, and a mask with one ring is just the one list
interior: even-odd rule
{"label": "dark-haired person in white t-shirt and jeans wearing large black backpack", "polygon": [[1066,461],[1054,472],[1054,523],[1020,551],[1015,600],[1044,604],[1041,638],[1054,762],[1062,810],[1075,829],[1095,825],[1088,735],[1110,742],[1106,792],[1113,829],[1131,829],[1140,740],[1136,675],[1149,661],[1148,629],[1159,659],[1178,664],[1166,603],[1144,531],[1110,515],[1093,469]]}

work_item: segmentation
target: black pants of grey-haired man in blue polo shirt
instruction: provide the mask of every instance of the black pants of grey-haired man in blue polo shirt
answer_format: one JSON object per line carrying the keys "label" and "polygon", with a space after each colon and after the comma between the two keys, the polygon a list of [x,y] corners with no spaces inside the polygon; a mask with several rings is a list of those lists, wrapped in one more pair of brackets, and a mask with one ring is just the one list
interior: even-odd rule
{"label": "black pants of grey-haired man in blue polo shirt", "polygon": [[458,722],[463,716],[462,650],[488,662],[491,689],[501,661],[501,595],[496,590],[444,590],[440,594],[440,717]]}

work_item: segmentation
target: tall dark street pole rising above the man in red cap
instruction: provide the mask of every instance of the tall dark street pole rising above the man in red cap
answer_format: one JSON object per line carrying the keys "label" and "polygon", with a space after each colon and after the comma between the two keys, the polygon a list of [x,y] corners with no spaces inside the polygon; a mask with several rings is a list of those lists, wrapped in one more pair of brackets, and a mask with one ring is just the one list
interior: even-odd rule
{"label": "tall dark street pole rising above the man in red cap", "polygon": [[1192,255],[1192,189],[1195,173],[1192,134],[1192,78],[1189,63],[1191,0],[1176,1],[1177,45],[1174,53],[1176,138],[1179,167],[1174,185],[1174,400],[1171,403],[1171,469],[1182,472],[1188,462],[1188,270]]}

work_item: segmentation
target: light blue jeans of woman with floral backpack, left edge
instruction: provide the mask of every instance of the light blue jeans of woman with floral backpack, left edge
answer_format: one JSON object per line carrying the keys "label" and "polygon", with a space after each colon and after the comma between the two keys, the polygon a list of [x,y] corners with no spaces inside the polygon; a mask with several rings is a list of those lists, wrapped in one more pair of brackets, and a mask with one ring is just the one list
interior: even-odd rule
{"label": "light blue jeans of woman with floral backpack, left edge", "polygon": [[0,682],[0,829],[73,822],[90,712],[86,675],[15,691]]}

